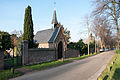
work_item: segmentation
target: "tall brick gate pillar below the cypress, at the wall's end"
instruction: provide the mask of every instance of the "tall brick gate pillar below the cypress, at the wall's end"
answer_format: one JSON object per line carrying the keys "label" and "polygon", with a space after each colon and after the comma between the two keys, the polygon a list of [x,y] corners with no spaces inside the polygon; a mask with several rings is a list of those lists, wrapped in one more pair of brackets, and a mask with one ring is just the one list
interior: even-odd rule
{"label": "tall brick gate pillar below the cypress, at the wall's end", "polygon": [[28,64],[28,41],[23,40],[22,44],[22,65]]}

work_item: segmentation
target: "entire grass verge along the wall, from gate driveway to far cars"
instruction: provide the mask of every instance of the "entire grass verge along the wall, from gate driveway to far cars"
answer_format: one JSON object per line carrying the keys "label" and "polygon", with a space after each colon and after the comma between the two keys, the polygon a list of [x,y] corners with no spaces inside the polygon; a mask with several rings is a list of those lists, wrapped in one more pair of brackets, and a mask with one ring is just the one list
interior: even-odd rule
{"label": "entire grass verge along the wall, from gate driveway to far cars", "polygon": [[[94,55],[96,55],[96,54],[94,53],[94,54],[90,54],[90,55],[84,55],[84,56],[69,58],[69,59],[80,60],[80,59],[84,59],[84,58],[87,58],[89,56],[94,56]],[[64,60],[64,61],[58,60],[58,61],[51,61],[51,62],[45,62],[45,63],[40,63],[40,64],[23,66],[23,68],[32,69],[32,70],[42,70],[42,69],[46,69],[49,67],[54,67],[54,66],[59,66],[59,65],[65,64],[65,63],[70,63],[70,62],[72,62],[72,61],[70,61],[70,60]]]}

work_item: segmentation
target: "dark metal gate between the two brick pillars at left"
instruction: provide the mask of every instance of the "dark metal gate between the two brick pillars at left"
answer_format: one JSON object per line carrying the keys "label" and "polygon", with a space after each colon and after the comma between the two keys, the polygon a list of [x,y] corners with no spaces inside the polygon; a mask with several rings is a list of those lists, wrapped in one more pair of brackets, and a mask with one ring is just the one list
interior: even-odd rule
{"label": "dark metal gate between the two brick pillars at left", "polygon": [[4,58],[4,69],[10,69],[12,67],[20,67],[22,66],[22,46],[18,45],[12,52],[9,53],[9,57]]}

